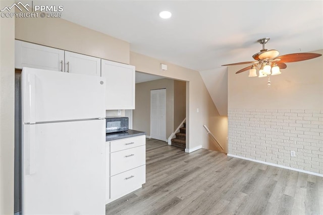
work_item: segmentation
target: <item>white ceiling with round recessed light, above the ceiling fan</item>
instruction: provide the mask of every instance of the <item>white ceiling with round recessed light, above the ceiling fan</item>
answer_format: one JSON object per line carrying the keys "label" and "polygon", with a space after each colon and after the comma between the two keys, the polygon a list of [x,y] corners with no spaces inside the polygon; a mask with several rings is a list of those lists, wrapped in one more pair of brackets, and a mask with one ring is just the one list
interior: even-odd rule
{"label": "white ceiling with round recessed light, above the ceiling fan", "polygon": [[[200,71],[204,80],[226,73],[221,65],[252,61],[263,37],[280,55],[323,49],[323,1],[48,2],[64,6],[64,19],[128,41],[131,51]],[[160,19],[163,10],[172,17]],[[205,84],[219,109],[226,84]]]}

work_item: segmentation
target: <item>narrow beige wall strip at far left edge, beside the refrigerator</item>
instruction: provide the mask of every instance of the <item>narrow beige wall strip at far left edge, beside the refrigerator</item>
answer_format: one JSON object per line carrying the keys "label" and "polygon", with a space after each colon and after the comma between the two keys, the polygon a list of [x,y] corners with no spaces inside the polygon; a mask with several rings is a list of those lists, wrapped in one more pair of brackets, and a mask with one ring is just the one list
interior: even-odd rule
{"label": "narrow beige wall strip at far left edge, beside the refrigerator", "polygon": [[[0,8],[14,1],[0,1]],[[0,19],[0,214],[14,213],[15,20]]]}

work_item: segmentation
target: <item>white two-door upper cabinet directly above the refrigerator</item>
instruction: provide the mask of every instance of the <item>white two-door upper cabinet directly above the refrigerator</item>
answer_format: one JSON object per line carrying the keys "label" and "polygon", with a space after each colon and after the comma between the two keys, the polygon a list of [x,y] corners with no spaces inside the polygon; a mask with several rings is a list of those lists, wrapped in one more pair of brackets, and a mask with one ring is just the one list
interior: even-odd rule
{"label": "white two-door upper cabinet directly above the refrigerator", "polygon": [[101,59],[15,40],[15,68],[23,67],[100,76]]}

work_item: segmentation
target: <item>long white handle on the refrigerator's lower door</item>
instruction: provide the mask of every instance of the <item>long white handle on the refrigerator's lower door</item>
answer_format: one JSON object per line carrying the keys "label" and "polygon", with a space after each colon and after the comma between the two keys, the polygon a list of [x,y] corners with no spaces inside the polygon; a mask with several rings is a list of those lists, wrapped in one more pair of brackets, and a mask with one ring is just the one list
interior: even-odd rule
{"label": "long white handle on the refrigerator's lower door", "polygon": [[36,173],[36,125],[24,126],[24,160],[26,164],[26,175]]}

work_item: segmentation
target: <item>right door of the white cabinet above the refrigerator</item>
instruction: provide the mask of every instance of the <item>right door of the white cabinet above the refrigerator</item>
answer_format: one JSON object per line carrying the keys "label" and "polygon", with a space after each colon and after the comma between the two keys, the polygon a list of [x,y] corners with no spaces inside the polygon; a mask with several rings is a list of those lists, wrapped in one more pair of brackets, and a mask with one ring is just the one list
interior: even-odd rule
{"label": "right door of the white cabinet above the refrigerator", "polygon": [[100,76],[101,59],[65,51],[65,72]]}

